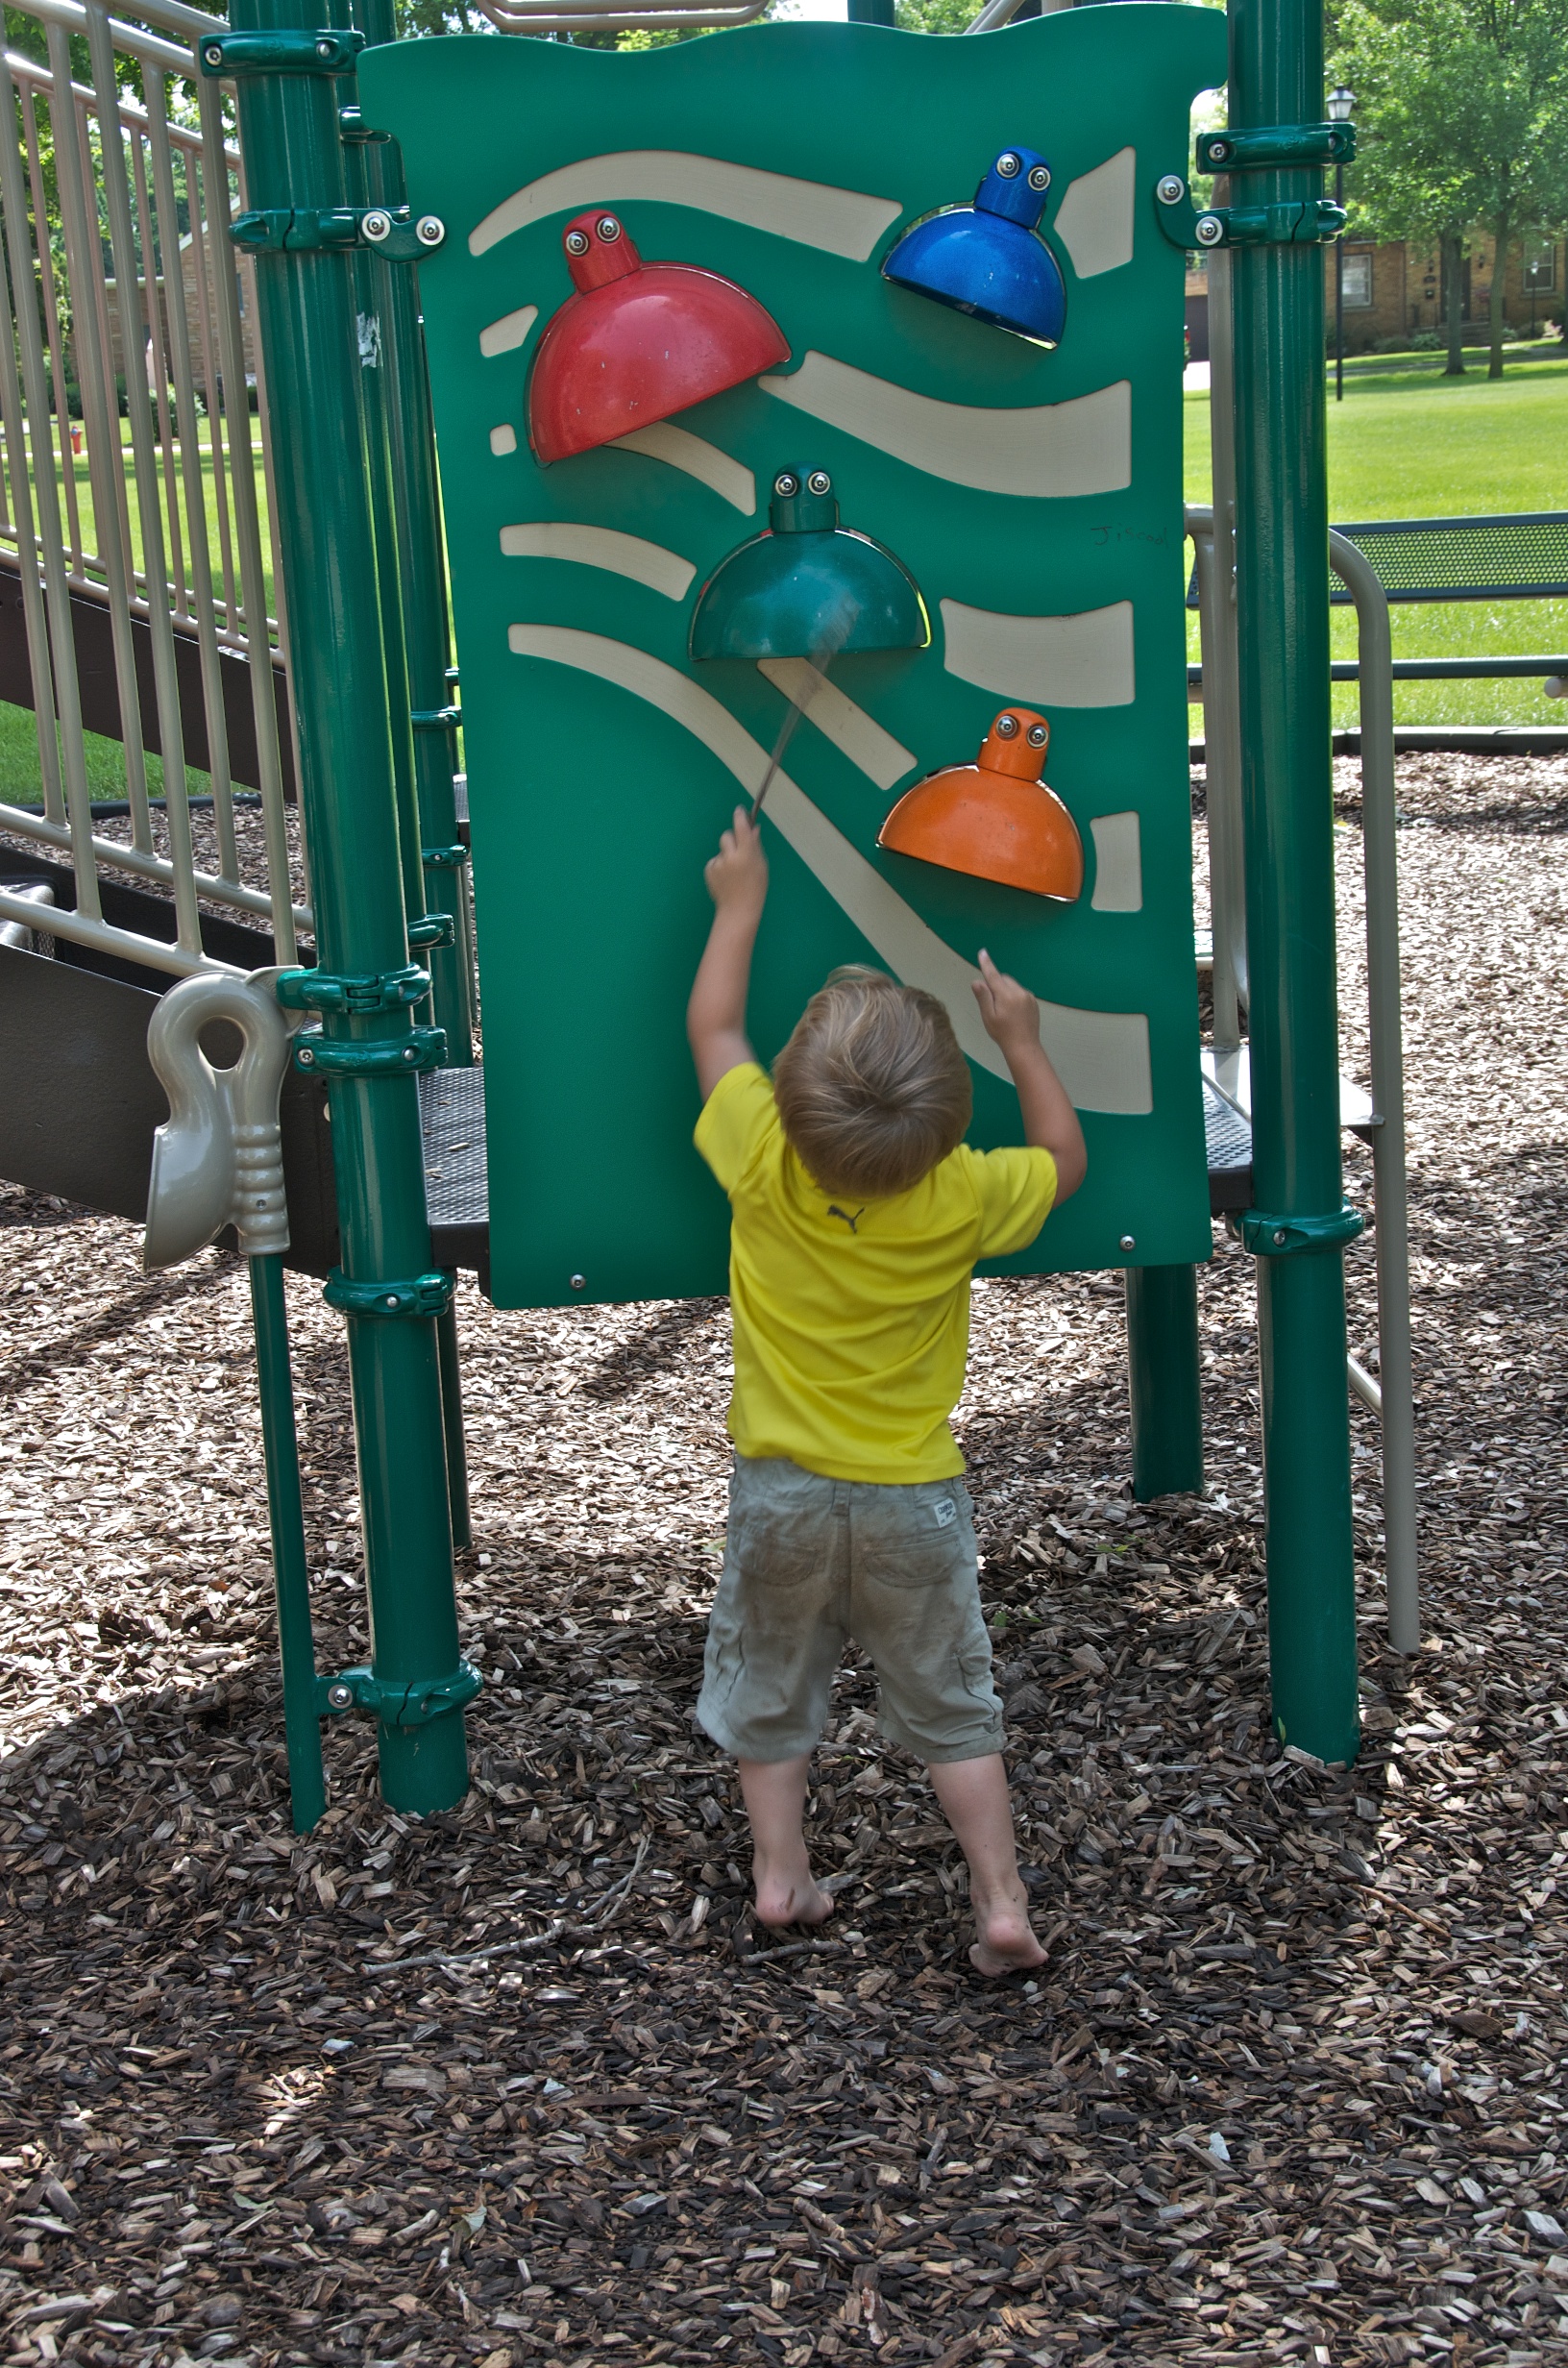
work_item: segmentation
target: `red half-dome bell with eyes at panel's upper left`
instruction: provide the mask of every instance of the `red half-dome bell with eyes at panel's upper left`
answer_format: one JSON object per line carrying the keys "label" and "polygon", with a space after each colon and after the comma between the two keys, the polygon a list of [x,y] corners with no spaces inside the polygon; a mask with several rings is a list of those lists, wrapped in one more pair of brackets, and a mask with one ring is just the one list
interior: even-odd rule
{"label": "red half-dome bell with eyes at panel's upper left", "polygon": [[580,213],[561,246],[573,294],[528,379],[540,462],[616,443],[789,360],[756,296],[694,263],[644,263],[616,213]]}

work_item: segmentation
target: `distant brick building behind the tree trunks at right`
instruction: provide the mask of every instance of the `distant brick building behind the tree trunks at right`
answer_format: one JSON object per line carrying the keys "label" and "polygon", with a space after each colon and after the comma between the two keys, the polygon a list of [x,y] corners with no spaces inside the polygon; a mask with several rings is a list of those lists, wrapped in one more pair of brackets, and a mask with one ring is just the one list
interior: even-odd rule
{"label": "distant brick building behind the tree trunks at right", "polygon": [[[1476,232],[1464,263],[1466,343],[1483,343],[1492,301],[1492,239]],[[1324,246],[1324,301],[1334,336],[1334,246]],[[1442,272],[1435,246],[1390,239],[1345,239],[1345,353],[1369,353],[1381,339],[1416,329],[1442,334]],[[1206,258],[1187,258],[1187,339],[1194,362],[1208,358]],[[1566,239],[1514,239],[1504,282],[1504,320],[1521,332],[1532,322],[1563,320],[1568,282]]]}

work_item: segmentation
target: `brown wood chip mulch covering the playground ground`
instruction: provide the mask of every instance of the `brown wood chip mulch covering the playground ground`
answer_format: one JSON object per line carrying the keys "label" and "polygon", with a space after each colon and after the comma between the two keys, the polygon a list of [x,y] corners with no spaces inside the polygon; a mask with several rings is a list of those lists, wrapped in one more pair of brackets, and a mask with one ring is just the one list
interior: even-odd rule
{"label": "brown wood chip mulch covering the playground ground", "polygon": [[[746,1918],[692,1729],[720,1302],[462,1293],[476,1783],[362,1724],[289,1833],[244,1272],[0,1191],[0,2304],[12,2368],[1523,2363],[1568,2354],[1568,765],[1400,770],[1428,1641],[1267,1731],[1253,1279],[1208,1492],[1127,1494],[1120,1286],[976,1291],[964,1447],[1049,1965],[983,1987],[850,1669],[820,1937]],[[1355,772],[1341,767],[1355,909]],[[1357,931],[1348,1068],[1364,1075]],[[1350,1158],[1367,1193],[1367,1160]],[[1371,1248],[1350,1253],[1371,1362]],[[343,1347],[291,1283],[322,1667],[365,1648]]]}

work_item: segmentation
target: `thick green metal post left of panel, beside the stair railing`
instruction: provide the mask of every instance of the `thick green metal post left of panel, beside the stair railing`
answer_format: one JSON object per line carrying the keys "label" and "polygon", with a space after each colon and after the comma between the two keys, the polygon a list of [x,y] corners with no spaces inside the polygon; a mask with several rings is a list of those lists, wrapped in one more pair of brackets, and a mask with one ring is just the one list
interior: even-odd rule
{"label": "thick green metal post left of panel, beside the stair railing", "polygon": [[[232,24],[317,33],[320,14],[313,0],[237,0]],[[336,81],[272,69],[234,88],[249,204],[306,218],[346,206]],[[415,1040],[396,992],[372,987],[343,1009],[327,992],[332,978],[407,964],[355,313],[353,251],[258,251],[343,1276],[381,1305],[348,1314],[381,1790],[396,1809],[431,1812],[467,1790],[462,1712],[400,1724],[415,1688],[462,1691],[441,1364],[436,1317],[393,1314],[381,1293],[431,1269]],[[348,1061],[379,1049],[393,1070],[334,1073],[334,1049]]]}

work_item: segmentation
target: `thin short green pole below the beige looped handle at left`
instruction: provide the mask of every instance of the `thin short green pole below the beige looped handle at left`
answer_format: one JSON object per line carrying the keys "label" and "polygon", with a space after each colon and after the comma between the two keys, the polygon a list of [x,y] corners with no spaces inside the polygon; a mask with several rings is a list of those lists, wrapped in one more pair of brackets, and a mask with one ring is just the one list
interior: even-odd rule
{"label": "thin short green pole below the beige looped handle at left", "polygon": [[282,1257],[251,1260],[256,1317],[256,1381],[261,1437],[268,1456],[268,1520],[272,1525],[272,1589],[277,1594],[277,1658],[284,1679],[284,1740],[294,1830],[310,1833],[327,1807],[322,1726],[315,1712],[315,1643],[310,1636],[310,1570],[306,1508],[298,1494],[294,1378],[289,1373],[289,1314]]}

